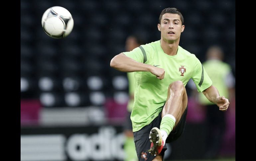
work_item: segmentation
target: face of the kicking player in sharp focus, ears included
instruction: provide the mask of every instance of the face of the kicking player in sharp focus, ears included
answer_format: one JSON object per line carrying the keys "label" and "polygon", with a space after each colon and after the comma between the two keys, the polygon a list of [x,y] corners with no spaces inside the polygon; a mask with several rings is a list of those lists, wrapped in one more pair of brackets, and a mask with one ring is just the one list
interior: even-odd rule
{"label": "face of the kicking player in sharp focus, ears included", "polygon": [[181,23],[180,15],[165,13],[161,24],[158,24],[158,30],[161,31],[161,38],[167,41],[180,40],[181,33],[185,26]]}

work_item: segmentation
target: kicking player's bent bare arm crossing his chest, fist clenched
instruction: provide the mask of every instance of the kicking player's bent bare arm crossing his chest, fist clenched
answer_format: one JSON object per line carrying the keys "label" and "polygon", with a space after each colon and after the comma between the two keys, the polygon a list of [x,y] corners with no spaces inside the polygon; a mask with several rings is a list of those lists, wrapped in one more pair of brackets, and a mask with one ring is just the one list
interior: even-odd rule
{"label": "kicking player's bent bare arm crossing his chest, fist clenched", "polygon": [[144,64],[133,60],[126,56],[124,53],[120,53],[112,58],[110,66],[121,72],[135,72],[135,71],[147,71],[156,75],[158,79],[164,79],[165,70],[155,67],[153,65]]}

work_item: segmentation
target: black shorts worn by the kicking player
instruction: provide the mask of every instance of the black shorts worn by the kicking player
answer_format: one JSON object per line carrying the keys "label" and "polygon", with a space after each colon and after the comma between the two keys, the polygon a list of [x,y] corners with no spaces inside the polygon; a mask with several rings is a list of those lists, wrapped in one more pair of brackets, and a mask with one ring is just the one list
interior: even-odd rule
{"label": "black shorts worn by the kicking player", "polygon": [[[183,113],[181,120],[179,121],[175,129],[171,131],[171,133],[168,135],[166,139],[166,143],[170,143],[172,141],[177,140],[183,133],[185,124],[186,124],[187,111],[188,111],[188,107]],[[139,161],[145,161],[145,160],[151,161],[155,158],[154,155],[151,155],[149,152],[147,152],[147,150],[150,149],[150,145],[151,145],[151,142],[149,141],[149,133],[153,127],[160,128],[161,121],[162,121],[162,111],[159,113],[158,117],[156,117],[150,124],[144,126],[139,131],[133,132],[136,153]],[[165,146],[161,151],[161,155],[163,158],[166,150],[167,150],[167,145],[165,144]]]}

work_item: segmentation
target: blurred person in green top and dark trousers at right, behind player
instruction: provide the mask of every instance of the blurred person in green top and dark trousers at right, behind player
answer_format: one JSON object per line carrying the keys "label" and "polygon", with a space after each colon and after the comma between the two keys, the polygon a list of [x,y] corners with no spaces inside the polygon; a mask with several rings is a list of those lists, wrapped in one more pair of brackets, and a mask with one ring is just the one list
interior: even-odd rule
{"label": "blurred person in green top and dark trousers at right, behind player", "polygon": [[[223,50],[220,46],[210,46],[206,52],[206,61],[202,65],[212,80],[212,85],[218,89],[219,94],[232,100],[235,97],[235,79],[231,71],[231,66],[223,62],[223,56]],[[217,158],[225,134],[226,114],[219,111],[217,106],[207,100],[202,93],[198,94],[195,92],[196,87],[192,81],[189,84],[194,89],[193,95],[197,95],[198,102],[206,108],[207,149],[205,158]]]}

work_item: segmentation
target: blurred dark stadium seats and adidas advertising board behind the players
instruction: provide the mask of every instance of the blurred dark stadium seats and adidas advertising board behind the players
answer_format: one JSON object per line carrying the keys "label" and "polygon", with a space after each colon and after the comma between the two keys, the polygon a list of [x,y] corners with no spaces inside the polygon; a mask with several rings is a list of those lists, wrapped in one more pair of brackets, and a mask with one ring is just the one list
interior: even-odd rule
{"label": "blurred dark stadium seats and adidas advertising board behind the players", "polygon": [[[66,8],[74,19],[71,34],[62,40],[50,38],[41,26],[43,13],[52,6]],[[232,0],[21,0],[21,160],[122,160],[128,82],[126,73],[109,62],[125,51],[131,34],[159,40],[158,18],[167,7],[184,16],[180,45],[201,62],[207,47],[220,45],[235,76]],[[189,102],[185,133],[169,145],[167,159],[203,159],[205,115],[196,107]],[[235,100],[226,124],[220,156],[234,157]],[[96,141],[88,152],[88,142],[103,134],[109,144]],[[108,151],[112,145],[116,151]]]}

